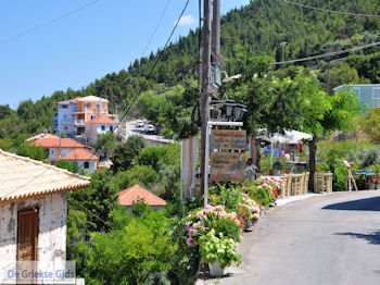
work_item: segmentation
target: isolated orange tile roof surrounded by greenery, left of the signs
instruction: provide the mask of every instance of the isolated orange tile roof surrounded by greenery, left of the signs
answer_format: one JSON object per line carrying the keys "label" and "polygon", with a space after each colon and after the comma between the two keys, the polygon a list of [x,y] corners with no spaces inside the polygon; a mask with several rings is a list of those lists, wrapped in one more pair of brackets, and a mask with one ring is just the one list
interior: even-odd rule
{"label": "isolated orange tile roof surrounded by greenery, left of the signs", "polygon": [[121,206],[131,206],[134,202],[141,199],[143,199],[144,203],[149,206],[166,205],[164,199],[161,199],[159,196],[155,196],[137,184],[118,193],[118,205]]}

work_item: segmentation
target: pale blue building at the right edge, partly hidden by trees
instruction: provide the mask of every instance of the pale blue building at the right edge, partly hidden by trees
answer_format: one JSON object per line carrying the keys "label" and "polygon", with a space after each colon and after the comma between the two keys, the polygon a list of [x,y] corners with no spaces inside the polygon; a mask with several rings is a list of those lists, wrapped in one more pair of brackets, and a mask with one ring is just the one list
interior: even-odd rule
{"label": "pale blue building at the right edge, partly hidden by trees", "polygon": [[380,107],[380,84],[341,85],[333,88],[333,91],[337,92],[345,88],[352,88],[360,101],[367,104],[368,109]]}

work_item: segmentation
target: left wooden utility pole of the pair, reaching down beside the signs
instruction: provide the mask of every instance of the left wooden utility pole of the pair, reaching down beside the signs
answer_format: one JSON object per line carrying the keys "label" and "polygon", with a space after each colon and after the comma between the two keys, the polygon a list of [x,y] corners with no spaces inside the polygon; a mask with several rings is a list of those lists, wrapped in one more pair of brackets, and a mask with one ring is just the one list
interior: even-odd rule
{"label": "left wooden utility pole of the pair, reaching down beside the signs", "polygon": [[211,79],[211,0],[203,2],[203,48],[202,48],[202,77],[201,77],[201,195],[204,194],[206,175],[206,134],[210,109],[210,79]]}

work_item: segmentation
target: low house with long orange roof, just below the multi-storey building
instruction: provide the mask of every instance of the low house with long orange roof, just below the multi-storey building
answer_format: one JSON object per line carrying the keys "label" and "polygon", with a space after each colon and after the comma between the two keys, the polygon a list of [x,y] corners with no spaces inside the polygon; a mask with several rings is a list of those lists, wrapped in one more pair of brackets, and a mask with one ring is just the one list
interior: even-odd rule
{"label": "low house with long orange roof, just below the multi-storey building", "polygon": [[39,138],[28,144],[45,148],[49,153],[49,160],[53,163],[76,149],[92,150],[91,147],[79,144],[71,138]]}

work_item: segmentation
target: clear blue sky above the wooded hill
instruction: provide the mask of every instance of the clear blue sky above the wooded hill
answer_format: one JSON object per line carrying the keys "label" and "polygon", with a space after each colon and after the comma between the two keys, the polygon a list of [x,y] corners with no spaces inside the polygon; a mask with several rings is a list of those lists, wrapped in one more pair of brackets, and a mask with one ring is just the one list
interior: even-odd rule
{"label": "clear blue sky above the wooded hill", "polygon": [[[220,2],[221,14],[226,14],[250,0]],[[88,3],[91,4],[69,16],[7,41]],[[107,73],[127,69],[135,59],[164,47],[185,3],[186,0],[0,1],[0,104],[16,109],[23,100],[36,101],[68,87],[80,89]],[[198,27],[198,3],[190,0],[174,42]]]}

